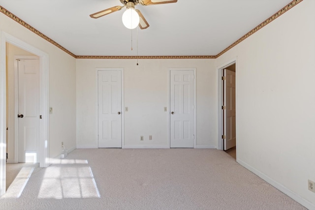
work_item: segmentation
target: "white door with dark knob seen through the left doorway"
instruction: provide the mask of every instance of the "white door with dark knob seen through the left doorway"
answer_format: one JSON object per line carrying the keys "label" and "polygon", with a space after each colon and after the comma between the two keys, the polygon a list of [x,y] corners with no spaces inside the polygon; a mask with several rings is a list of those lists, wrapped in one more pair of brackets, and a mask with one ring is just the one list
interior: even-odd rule
{"label": "white door with dark knob seen through the left doorway", "polygon": [[39,60],[18,60],[18,162],[37,163],[39,150]]}

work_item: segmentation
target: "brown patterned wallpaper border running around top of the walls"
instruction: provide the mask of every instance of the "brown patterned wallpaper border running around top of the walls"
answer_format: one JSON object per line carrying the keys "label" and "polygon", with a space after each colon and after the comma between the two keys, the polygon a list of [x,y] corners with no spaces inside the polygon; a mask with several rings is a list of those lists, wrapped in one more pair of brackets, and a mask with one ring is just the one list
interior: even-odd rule
{"label": "brown patterned wallpaper border running around top of the walls", "polygon": [[250,32],[246,33],[244,36],[239,38],[237,41],[235,41],[233,44],[231,44],[230,46],[225,48],[221,53],[219,53],[216,56],[76,56],[73,53],[71,53],[70,51],[68,51],[67,49],[65,49],[63,46],[61,46],[60,44],[58,44],[57,42],[55,42],[54,40],[52,40],[51,38],[46,36],[45,34],[34,29],[31,25],[27,24],[22,19],[18,18],[17,16],[15,16],[14,14],[9,12],[5,8],[3,8],[2,6],[0,6],[0,12],[2,12],[6,16],[8,16],[9,18],[18,22],[19,24],[21,24],[25,28],[31,30],[35,34],[39,35],[40,37],[42,37],[46,41],[52,43],[53,45],[60,48],[61,50],[63,50],[64,52],[66,52],[67,54],[69,54],[70,56],[72,56],[76,59],[216,59],[216,58],[220,57],[222,54],[226,53],[231,48],[233,48],[234,46],[236,46],[237,44],[239,44],[240,42],[242,42],[243,40],[245,40],[246,38],[248,38],[249,36],[251,36],[253,33],[257,32],[258,30],[260,30],[261,28],[263,28],[267,24],[271,23],[272,21],[274,21],[275,19],[277,19],[278,17],[283,15],[286,11],[288,11],[289,9],[291,9],[292,7],[294,7],[295,5],[300,3],[301,1],[303,1],[303,0],[291,1],[289,4],[284,6],[284,8],[282,8],[281,10],[276,12],[274,15],[272,15],[270,18],[268,18],[267,20],[265,20],[264,22],[259,24],[257,27],[252,29]]}

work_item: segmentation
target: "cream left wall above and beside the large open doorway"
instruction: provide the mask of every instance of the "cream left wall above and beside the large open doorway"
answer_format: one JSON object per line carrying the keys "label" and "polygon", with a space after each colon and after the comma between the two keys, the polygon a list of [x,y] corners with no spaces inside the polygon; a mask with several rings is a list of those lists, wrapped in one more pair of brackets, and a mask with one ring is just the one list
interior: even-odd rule
{"label": "cream left wall above and beside the large open doorway", "polygon": [[54,109],[53,114],[49,116],[49,156],[56,157],[61,153],[62,141],[68,149],[74,149],[76,147],[75,59],[2,13],[0,13],[0,30],[48,54],[49,106]]}

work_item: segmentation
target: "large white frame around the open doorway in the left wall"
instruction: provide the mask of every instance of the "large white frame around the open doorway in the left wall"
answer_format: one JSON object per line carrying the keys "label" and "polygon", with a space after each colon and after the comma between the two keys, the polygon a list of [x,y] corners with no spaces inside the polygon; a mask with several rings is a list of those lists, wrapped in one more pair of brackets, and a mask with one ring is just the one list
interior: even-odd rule
{"label": "large white frame around the open doorway in the left wall", "polygon": [[40,153],[39,166],[49,166],[49,62],[48,54],[29,45],[26,42],[4,32],[0,31],[0,196],[5,193],[5,160],[6,160],[6,47],[5,43],[10,43],[23,50],[26,50],[39,57],[40,62]]}

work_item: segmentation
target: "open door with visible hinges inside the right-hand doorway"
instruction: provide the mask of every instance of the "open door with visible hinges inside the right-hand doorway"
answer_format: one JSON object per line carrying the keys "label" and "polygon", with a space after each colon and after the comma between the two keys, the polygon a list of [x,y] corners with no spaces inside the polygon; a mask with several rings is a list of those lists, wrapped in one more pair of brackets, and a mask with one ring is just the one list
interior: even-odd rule
{"label": "open door with visible hinges inside the right-hand doorway", "polygon": [[236,146],[236,107],[235,107],[235,72],[228,69],[223,70],[224,81],[224,150]]}

